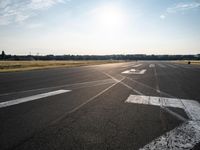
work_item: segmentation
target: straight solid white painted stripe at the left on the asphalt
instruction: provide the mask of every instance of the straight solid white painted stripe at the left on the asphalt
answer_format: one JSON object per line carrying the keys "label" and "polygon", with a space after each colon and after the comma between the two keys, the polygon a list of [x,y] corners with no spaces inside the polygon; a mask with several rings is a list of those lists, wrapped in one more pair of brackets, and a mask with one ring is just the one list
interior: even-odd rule
{"label": "straight solid white painted stripe at the left on the asphalt", "polygon": [[70,90],[57,90],[57,91],[52,91],[52,92],[48,92],[48,93],[33,95],[33,96],[19,98],[19,99],[15,99],[15,100],[6,101],[6,102],[1,102],[0,108],[17,105],[17,104],[25,103],[25,102],[29,102],[29,101],[34,101],[37,99],[54,96],[54,95],[58,95],[58,94],[66,93],[66,92],[70,92]]}

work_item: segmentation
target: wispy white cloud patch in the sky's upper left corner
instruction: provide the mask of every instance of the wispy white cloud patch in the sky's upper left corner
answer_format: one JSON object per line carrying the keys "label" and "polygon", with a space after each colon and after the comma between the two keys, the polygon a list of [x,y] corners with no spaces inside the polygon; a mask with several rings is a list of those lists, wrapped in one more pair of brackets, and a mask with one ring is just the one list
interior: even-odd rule
{"label": "wispy white cloud patch in the sky's upper left corner", "polygon": [[0,1],[0,25],[21,23],[36,12],[49,9],[64,0],[3,0]]}

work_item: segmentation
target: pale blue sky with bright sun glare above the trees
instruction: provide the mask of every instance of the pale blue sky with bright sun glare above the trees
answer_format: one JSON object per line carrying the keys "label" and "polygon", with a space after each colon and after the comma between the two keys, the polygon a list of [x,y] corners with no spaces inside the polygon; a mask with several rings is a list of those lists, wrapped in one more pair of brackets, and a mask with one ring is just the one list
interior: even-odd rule
{"label": "pale blue sky with bright sun glare above the trees", "polygon": [[199,54],[200,0],[0,0],[0,50]]}

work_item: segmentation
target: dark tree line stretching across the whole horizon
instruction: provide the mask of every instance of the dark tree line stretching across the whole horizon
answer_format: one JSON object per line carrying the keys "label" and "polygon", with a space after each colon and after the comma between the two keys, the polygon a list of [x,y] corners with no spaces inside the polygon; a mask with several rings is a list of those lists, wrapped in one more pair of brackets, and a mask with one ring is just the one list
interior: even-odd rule
{"label": "dark tree line stretching across the whole horizon", "polygon": [[6,55],[2,51],[1,60],[200,60],[197,55]]}

